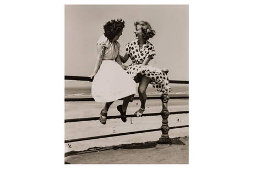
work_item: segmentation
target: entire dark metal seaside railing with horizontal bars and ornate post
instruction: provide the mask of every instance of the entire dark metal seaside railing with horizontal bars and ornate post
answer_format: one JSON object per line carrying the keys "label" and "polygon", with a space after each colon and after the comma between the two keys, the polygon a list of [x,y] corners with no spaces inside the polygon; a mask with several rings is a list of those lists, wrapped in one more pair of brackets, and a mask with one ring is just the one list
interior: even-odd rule
{"label": "entire dark metal seaside railing with horizontal bars and ornate post", "polygon": [[[83,77],[83,76],[65,76],[65,80],[77,80],[77,81],[90,81],[92,82],[93,79],[90,77]],[[176,83],[176,84],[188,84],[188,81],[178,81],[178,80],[170,80],[169,83]],[[139,99],[138,97],[134,98],[135,100]],[[154,131],[162,131],[162,135],[159,139],[160,143],[170,143],[170,138],[168,136],[168,131],[170,129],[175,128],[184,128],[188,127],[188,125],[184,126],[176,126],[176,127],[169,127],[168,126],[168,116],[174,114],[188,114],[188,111],[176,111],[176,112],[169,112],[167,109],[167,103],[169,99],[188,99],[188,97],[169,97],[168,94],[163,93],[161,97],[148,97],[147,99],[161,99],[162,100],[162,111],[160,113],[150,113],[150,114],[143,114],[142,116],[162,116],[162,126],[161,128],[157,129],[148,129],[144,131],[134,131],[134,132],[125,132],[125,133],[117,133],[117,134],[107,134],[107,135],[99,135],[95,137],[87,137],[87,138],[78,138],[78,139],[69,139],[65,140],[65,143],[71,143],[75,141],[83,141],[83,140],[91,140],[91,139],[100,139],[100,138],[109,138],[109,137],[116,137],[120,135],[128,135],[128,134],[136,134],[136,133],[145,133],[145,132],[154,132]],[[120,99],[122,100],[122,99]],[[93,98],[65,98],[65,101],[94,101]],[[135,115],[126,115],[126,117],[135,117]],[[108,116],[107,119],[112,118],[121,118],[121,116]],[[64,122],[80,122],[80,121],[93,121],[99,120],[99,117],[86,117],[86,118],[72,118],[66,119]]]}

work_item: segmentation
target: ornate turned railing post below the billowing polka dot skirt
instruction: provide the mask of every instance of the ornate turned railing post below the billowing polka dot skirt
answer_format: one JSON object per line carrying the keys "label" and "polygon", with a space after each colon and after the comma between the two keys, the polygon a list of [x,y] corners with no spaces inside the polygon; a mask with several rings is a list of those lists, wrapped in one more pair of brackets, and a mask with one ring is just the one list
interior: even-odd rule
{"label": "ornate turned railing post below the billowing polka dot skirt", "polygon": [[[166,74],[168,73],[167,69],[163,69],[163,72]],[[161,111],[161,116],[162,116],[162,126],[161,126],[161,131],[162,131],[162,136],[159,138],[160,143],[170,143],[170,138],[168,135],[170,127],[168,126],[168,116],[170,115],[168,108],[167,108],[167,103],[169,100],[168,93],[162,93],[161,95],[161,100],[162,100],[162,111]]]}

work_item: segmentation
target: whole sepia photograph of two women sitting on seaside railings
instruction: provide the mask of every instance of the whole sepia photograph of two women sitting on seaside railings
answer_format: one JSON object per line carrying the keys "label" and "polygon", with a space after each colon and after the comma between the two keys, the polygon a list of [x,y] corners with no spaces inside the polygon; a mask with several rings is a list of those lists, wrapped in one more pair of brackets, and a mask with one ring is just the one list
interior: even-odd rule
{"label": "whole sepia photograph of two women sitting on seaside railings", "polygon": [[65,164],[188,164],[188,5],[64,6]]}

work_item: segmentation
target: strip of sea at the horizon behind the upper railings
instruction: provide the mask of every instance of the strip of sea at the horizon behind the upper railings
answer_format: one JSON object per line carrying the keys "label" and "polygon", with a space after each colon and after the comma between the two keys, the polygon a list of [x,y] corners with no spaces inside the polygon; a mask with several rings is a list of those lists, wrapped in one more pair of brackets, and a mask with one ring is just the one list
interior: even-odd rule
{"label": "strip of sea at the horizon behind the upper railings", "polygon": [[[169,93],[169,96],[188,96],[188,84],[170,84],[169,86],[171,87],[171,93]],[[150,84],[146,89],[146,94],[148,97],[161,95],[161,93],[157,92],[157,90]],[[138,93],[135,97],[136,96],[138,96]],[[92,98],[91,87],[65,87],[65,98]]]}

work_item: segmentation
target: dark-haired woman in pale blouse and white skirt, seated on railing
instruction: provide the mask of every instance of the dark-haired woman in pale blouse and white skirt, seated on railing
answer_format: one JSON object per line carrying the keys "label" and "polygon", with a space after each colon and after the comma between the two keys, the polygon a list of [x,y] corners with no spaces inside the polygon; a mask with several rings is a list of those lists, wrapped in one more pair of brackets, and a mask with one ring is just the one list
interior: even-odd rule
{"label": "dark-haired woman in pale blouse and white skirt, seated on railing", "polygon": [[[104,35],[97,41],[97,60],[90,77],[91,94],[96,102],[105,103],[100,112],[100,122],[106,124],[107,111],[113,101],[130,98],[136,93],[136,83],[123,70],[119,58],[120,44],[117,42],[122,35],[124,21],[122,19],[108,21],[104,25]],[[121,119],[126,122],[126,115],[121,113]]]}

